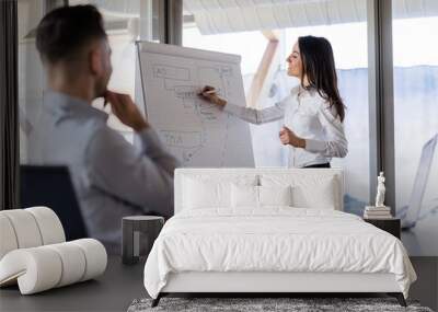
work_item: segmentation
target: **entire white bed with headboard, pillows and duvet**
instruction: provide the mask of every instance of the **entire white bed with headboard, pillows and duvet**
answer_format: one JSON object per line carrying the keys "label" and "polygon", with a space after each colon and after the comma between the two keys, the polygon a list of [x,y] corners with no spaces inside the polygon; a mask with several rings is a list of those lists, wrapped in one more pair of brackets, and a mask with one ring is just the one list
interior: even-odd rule
{"label": "entire white bed with headboard, pillows and duvet", "polygon": [[145,265],[169,293],[385,292],[415,271],[400,240],[343,212],[341,169],[178,169],[175,216]]}

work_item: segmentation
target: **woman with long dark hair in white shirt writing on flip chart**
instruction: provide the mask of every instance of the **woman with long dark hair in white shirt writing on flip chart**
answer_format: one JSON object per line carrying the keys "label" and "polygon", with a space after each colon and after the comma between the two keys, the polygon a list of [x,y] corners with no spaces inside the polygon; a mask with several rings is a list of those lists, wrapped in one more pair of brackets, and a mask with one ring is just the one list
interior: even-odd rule
{"label": "woman with long dark hair in white shirt writing on flip chart", "polygon": [[252,124],[284,119],[279,139],[290,146],[289,167],[330,167],[332,158],[348,151],[332,46],[323,37],[299,37],[287,62],[288,76],[299,78],[300,84],[272,107],[258,111],[227,103],[208,85],[199,95]]}

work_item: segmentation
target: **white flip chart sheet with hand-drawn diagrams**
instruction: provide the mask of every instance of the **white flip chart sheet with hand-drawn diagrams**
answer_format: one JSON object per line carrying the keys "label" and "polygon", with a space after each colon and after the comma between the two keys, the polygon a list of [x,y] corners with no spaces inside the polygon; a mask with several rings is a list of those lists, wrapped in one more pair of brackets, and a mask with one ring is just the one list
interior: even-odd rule
{"label": "white flip chart sheet with hand-drawn diagrams", "polygon": [[254,165],[247,124],[198,95],[244,105],[239,56],[142,43],[139,60],[148,119],[183,166]]}

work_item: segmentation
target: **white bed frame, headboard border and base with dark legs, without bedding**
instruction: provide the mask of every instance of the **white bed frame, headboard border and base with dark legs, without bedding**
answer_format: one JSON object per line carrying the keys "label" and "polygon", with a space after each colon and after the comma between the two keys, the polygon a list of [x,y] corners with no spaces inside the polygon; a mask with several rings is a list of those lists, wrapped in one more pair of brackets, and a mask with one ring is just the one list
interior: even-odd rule
{"label": "white bed frame, headboard border and base with dark legs, without bedding", "polygon": [[[177,169],[175,171],[175,212],[181,211],[182,182],[186,175],[215,174],[263,174],[293,173],[300,169]],[[344,176],[342,169],[306,169],[307,173],[318,171],[319,174],[335,175],[339,182],[339,198],[344,195]],[[314,172],[313,172],[314,174]],[[343,210],[339,200],[338,210]],[[166,286],[161,290],[152,307],[157,307],[162,297],[169,294],[224,294],[234,297],[244,293],[245,297],[290,297],[291,294],[309,294],[318,297],[327,294],[345,297],[345,294],[366,296],[387,293],[395,297],[402,307],[406,302],[393,274],[360,274],[360,273],[277,273],[277,271],[186,271],[171,274]],[[351,296],[354,297],[354,296]]]}

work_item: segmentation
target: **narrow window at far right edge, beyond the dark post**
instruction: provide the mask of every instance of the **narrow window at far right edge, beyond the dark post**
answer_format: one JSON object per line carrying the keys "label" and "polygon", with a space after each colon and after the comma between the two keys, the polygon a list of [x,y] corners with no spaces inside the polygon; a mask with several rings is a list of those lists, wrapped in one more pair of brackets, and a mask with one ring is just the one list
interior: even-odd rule
{"label": "narrow window at far right edge, beyond the dark post", "polygon": [[438,148],[423,148],[438,140],[438,14],[402,15],[402,2],[393,1],[392,23],[396,209],[416,222],[402,234],[408,253],[429,256],[438,254]]}

